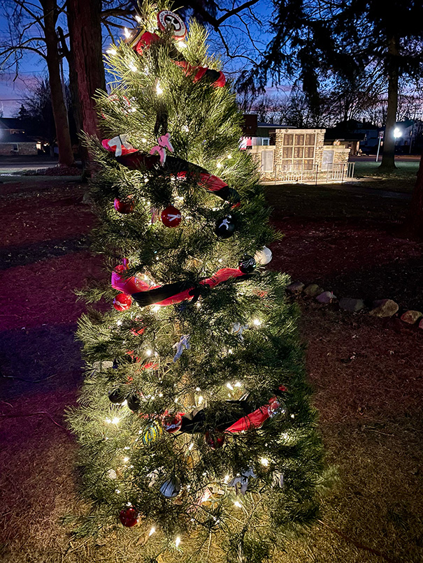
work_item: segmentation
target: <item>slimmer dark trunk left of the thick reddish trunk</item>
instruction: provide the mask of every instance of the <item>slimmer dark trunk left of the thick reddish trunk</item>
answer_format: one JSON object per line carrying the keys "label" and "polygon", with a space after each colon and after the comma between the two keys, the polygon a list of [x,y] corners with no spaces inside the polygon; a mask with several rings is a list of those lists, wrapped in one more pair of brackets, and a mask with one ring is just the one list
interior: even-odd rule
{"label": "slimmer dark trunk left of the thick reddish trunk", "polygon": [[72,166],[75,159],[73,158],[68,114],[63,97],[62,81],[60,80],[60,57],[56,35],[57,3],[56,0],[41,0],[41,6],[43,6],[48,78],[55,117],[56,140],[59,147],[59,164]]}

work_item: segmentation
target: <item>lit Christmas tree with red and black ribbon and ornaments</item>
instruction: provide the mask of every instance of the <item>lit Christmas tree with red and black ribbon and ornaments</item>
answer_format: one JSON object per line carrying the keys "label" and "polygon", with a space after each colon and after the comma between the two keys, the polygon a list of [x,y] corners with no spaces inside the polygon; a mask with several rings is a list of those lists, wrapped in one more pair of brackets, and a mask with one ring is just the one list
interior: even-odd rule
{"label": "lit Christmas tree with red and black ribbon and ornaments", "polygon": [[322,446],[242,115],[206,31],[169,8],[143,3],[109,50],[87,139],[111,284],[78,328],[80,533],[132,534],[140,562],[261,562],[315,520]]}

